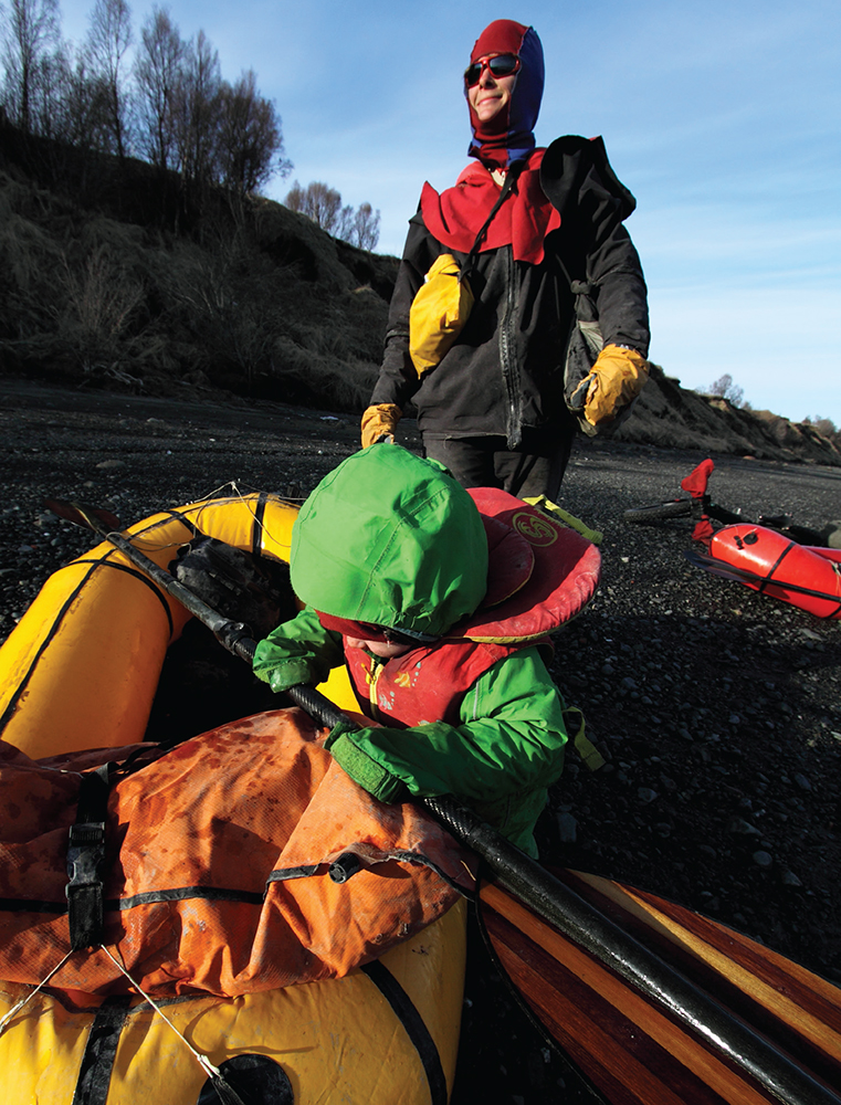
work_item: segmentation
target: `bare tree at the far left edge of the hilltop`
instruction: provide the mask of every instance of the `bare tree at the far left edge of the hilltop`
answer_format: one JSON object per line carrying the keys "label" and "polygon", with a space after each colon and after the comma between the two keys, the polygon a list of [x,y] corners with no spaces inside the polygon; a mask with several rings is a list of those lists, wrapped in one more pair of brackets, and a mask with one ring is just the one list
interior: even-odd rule
{"label": "bare tree at the far left edge of the hilltop", "polygon": [[39,94],[54,85],[55,66],[50,59],[60,44],[59,0],[7,0],[6,8],[6,107],[14,123],[29,133],[39,109]]}

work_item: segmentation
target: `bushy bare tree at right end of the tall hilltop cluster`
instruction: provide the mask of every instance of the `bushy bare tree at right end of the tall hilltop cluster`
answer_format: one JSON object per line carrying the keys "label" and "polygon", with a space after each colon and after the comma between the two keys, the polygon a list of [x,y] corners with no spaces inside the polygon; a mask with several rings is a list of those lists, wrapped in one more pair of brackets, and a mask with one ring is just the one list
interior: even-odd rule
{"label": "bushy bare tree at right end of the tall hilltop cluster", "polygon": [[292,169],[283,156],[281,118],[259,94],[253,70],[234,85],[222,84],[219,152],[223,182],[243,196]]}

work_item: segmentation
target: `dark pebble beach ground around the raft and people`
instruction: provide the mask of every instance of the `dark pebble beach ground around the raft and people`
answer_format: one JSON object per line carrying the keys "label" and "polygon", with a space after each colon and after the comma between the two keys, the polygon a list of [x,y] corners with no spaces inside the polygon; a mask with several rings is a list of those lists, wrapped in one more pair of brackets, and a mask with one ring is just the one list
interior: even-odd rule
{"label": "dark pebble beach ground around the raft and people", "polygon": [[[356,449],[357,427],[240,400],[0,382],[0,639],[52,570],[96,544],[45,497],[129,524],[231,480],[306,495]],[[413,423],[402,440],[418,445]],[[715,498],[747,517],[820,528],[841,515],[838,470],[714,459]],[[841,627],[692,567],[687,520],[622,520],[676,496],[701,460],[576,448],[563,505],[603,532],[603,576],[557,634],[553,672],[607,764],[592,774],[569,755],[542,857],[675,899],[841,982]],[[455,1105],[584,1099],[473,944]]]}

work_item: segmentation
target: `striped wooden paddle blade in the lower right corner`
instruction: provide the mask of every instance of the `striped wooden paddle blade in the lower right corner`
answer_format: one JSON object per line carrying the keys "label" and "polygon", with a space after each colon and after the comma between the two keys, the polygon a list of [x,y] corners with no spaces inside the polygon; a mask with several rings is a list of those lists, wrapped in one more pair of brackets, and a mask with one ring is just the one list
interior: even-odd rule
{"label": "striped wooden paddle blade in the lower right corner", "polygon": [[[841,991],[723,925],[606,878],[556,871],[577,894],[766,1036],[829,1099],[841,1086]],[[779,1097],[691,1025],[500,887],[481,892],[500,960],[546,1029],[613,1105],[760,1105]],[[827,1099],[824,1096],[823,1099]],[[841,1096],[837,1098],[841,1103]]]}

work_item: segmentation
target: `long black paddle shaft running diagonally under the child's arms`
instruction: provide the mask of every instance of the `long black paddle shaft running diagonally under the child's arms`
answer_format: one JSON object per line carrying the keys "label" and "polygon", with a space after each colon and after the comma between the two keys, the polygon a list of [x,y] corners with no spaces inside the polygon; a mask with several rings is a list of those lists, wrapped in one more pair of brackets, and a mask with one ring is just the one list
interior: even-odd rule
{"label": "long black paddle shaft running diagonally under the child's arms", "polygon": [[[108,530],[90,513],[80,513],[90,528],[181,602],[230,652],[251,662],[256,644],[246,625],[223,618],[127,538]],[[325,726],[347,722],[346,715],[314,687],[295,686],[286,693]],[[503,890],[656,1001],[780,1102],[786,1105],[841,1105],[841,1096],[816,1082],[749,1025],[730,1015],[470,810],[449,797],[425,798],[422,803],[460,843],[483,860]]]}

